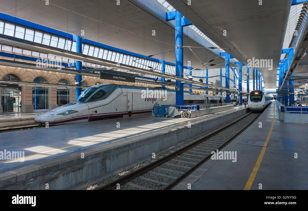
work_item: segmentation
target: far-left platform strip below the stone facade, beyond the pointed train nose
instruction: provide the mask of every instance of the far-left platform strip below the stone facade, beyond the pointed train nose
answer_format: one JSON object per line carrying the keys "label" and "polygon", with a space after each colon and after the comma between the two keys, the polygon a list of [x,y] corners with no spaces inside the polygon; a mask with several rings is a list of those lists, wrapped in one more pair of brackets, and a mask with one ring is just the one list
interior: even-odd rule
{"label": "far-left platform strip below the stone facade, beyond the pointed train nose", "polygon": [[35,124],[34,118],[43,112],[34,113],[7,113],[0,115],[0,128],[15,126],[15,125],[27,125]]}

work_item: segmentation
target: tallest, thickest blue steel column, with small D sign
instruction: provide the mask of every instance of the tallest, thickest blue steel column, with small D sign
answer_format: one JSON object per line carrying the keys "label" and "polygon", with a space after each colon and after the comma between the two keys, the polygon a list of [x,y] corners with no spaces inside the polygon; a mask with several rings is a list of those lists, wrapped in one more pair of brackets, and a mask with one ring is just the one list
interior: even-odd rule
{"label": "tallest, thickest blue steel column, with small D sign", "polygon": [[[176,76],[183,78],[183,26],[182,15],[175,12],[175,57],[176,57]],[[176,81],[176,86],[180,86],[180,91],[176,92],[176,105],[184,104],[184,84]]]}

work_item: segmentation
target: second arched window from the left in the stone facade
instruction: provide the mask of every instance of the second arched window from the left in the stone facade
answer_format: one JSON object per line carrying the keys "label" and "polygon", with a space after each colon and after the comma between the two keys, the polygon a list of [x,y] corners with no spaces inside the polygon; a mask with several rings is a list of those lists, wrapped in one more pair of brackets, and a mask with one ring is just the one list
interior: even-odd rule
{"label": "second arched window from the left in the stone facade", "polygon": [[[37,83],[48,83],[44,77],[37,77],[33,82]],[[48,109],[48,87],[46,86],[33,86],[32,87],[32,103],[34,110],[37,109]]]}

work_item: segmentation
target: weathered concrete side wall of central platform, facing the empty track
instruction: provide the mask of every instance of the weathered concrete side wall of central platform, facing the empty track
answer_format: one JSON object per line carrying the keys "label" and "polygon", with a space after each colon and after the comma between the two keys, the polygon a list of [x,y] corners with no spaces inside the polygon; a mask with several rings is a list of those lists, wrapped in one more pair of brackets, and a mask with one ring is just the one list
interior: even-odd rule
{"label": "weathered concrete side wall of central platform, facing the empty track", "polygon": [[38,165],[24,167],[0,174],[0,190],[44,190],[46,183],[50,190],[68,189],[82,182],[103,175],[120,167],[125,167],[139,159],[151,157],[153,152],[167,150],[193,137],[200,136],[218,126],[249,112],[249,109],[231,110],[225,115],[213,116],[204,121],[191,121],[191,128],[182,123],[168,131],[140,135],[123,142],[115,142],[80,153],[46,161]]}

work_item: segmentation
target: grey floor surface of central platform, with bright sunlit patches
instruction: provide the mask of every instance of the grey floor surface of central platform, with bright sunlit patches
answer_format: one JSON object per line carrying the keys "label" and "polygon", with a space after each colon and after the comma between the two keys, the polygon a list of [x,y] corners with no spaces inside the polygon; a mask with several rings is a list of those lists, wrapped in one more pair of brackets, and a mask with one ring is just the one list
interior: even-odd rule
{"label": "grey floor surface of central platform, with bright sunlit patches", "polygon": [[[0,134],[0,153],[24,151],[25,160],[0,160],[0,173],[26,167],[79,150],[127,141],[137,136],[152,136],[156,131],[176,129],[188,121],[203,121],[214,115],[226,115],[244,106],[192,119],[135,116],[87,123],[51,126]],[[149,114],[151,115],[151,114]],[[120,126],[120,128],[117,127]]]}

